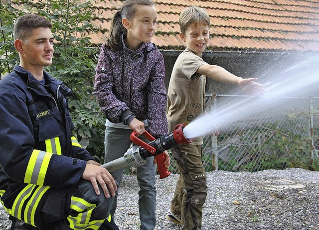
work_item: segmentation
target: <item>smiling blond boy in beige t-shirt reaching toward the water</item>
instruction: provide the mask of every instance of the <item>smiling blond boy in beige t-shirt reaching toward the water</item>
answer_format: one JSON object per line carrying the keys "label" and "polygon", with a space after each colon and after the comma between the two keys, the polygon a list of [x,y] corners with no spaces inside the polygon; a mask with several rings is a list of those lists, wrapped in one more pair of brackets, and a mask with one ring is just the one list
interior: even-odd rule
{"label": "smiling blond boy in beige t-shirt reaching toward the water", "polygon": [[[188,124],[202,115],[204,110],[205,78],[239,85],[251,94],[263,92],[263,85],[253,82],[257,78],[243,79],[225,69],[209,65],[201,58],[209,40],[209,15],[204,9],[190,6],[179,17],[180,38],[186,49],[178,56],[168,86],[167,120],[168,131],[175,125]],[[192,107],[191,105],[199,105]],[[193,139],[187,146],[171,149],[176,161],[179,178],[166,219],[182,230],[201,229],[202,206],[207,196],[206,172],[202,164],[202,137]]]}

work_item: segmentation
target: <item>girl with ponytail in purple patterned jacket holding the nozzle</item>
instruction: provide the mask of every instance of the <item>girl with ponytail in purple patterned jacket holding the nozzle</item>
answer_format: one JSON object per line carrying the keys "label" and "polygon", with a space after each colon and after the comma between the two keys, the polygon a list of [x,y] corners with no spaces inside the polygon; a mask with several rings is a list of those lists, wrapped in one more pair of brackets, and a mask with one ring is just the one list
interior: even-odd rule
{"label": "girl with ponytail in purple patterned jacket holding the nozzle", "polygon": [[[157,11],[150,0],[126,0],[115,13],[109,37],[101,46],[94,92],[106,115],[105,163],[124,156],[132,131],[148,130],[155,138],[167,134],[163,56],[151,43]],[[170,159],[164,152],[165,167]],[[154,161],[156,163],[156,160]],[[153,158],[137,168],[141,230],[156,225],[156,171]],[[111,173],[121,184],[123,169]],[[111,215],[114,216],[117,198]]]}

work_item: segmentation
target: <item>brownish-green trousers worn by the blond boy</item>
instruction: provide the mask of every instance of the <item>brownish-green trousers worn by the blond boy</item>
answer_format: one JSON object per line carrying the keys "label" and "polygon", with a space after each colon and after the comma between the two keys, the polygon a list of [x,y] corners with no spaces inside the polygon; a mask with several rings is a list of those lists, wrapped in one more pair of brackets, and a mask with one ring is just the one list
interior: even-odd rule
{"label": "brownish-green trousers worn by the blond boy", "polygon": [[179,170],[179,178],[170,211],[181,215],[182,230],[200,230],[202,207],[207,196],[206,172],[201,145],[178,145],[171,149]]}

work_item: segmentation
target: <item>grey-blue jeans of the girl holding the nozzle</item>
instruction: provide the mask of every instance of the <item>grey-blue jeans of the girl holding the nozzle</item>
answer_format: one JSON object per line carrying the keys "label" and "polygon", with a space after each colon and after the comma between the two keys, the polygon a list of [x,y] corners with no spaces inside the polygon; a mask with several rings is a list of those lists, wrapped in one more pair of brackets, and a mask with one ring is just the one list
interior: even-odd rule
{"label": "grey-blue jeans of the girl holding the nozzle", "polygon": [[[131,129],[106,127],[105,131],[105,163],[124,156],[130,148]],[[145,142],[149,142],[144,136],[140,136]],[[140,230],[153,230],[156,225],[156,167],[153,164],[154,157],[148,157],[146,163],[137,167],[137,179],[140,187],[139,191],[139,213],[141,220]],[[113,178],[119,183],[123,178],[124,169],[111,172]],[[114,218],[117,207],[117,197],[111,209],[111,216]]]}

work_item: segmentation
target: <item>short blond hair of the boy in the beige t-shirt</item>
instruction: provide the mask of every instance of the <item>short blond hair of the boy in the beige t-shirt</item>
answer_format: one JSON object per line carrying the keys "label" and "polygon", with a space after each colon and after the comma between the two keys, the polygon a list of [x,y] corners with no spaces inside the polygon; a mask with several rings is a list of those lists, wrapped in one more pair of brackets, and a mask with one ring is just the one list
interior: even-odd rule
{"label": "short blond hair of the boy in the beige t-shirt", "polygon": [[186,32],[187,27],[195,22],[196,24],[204,22],[208,27],[210,26],[210,18],[207,12],[198,6],[191,5],[185,8],[179,15],[180,32]]}

